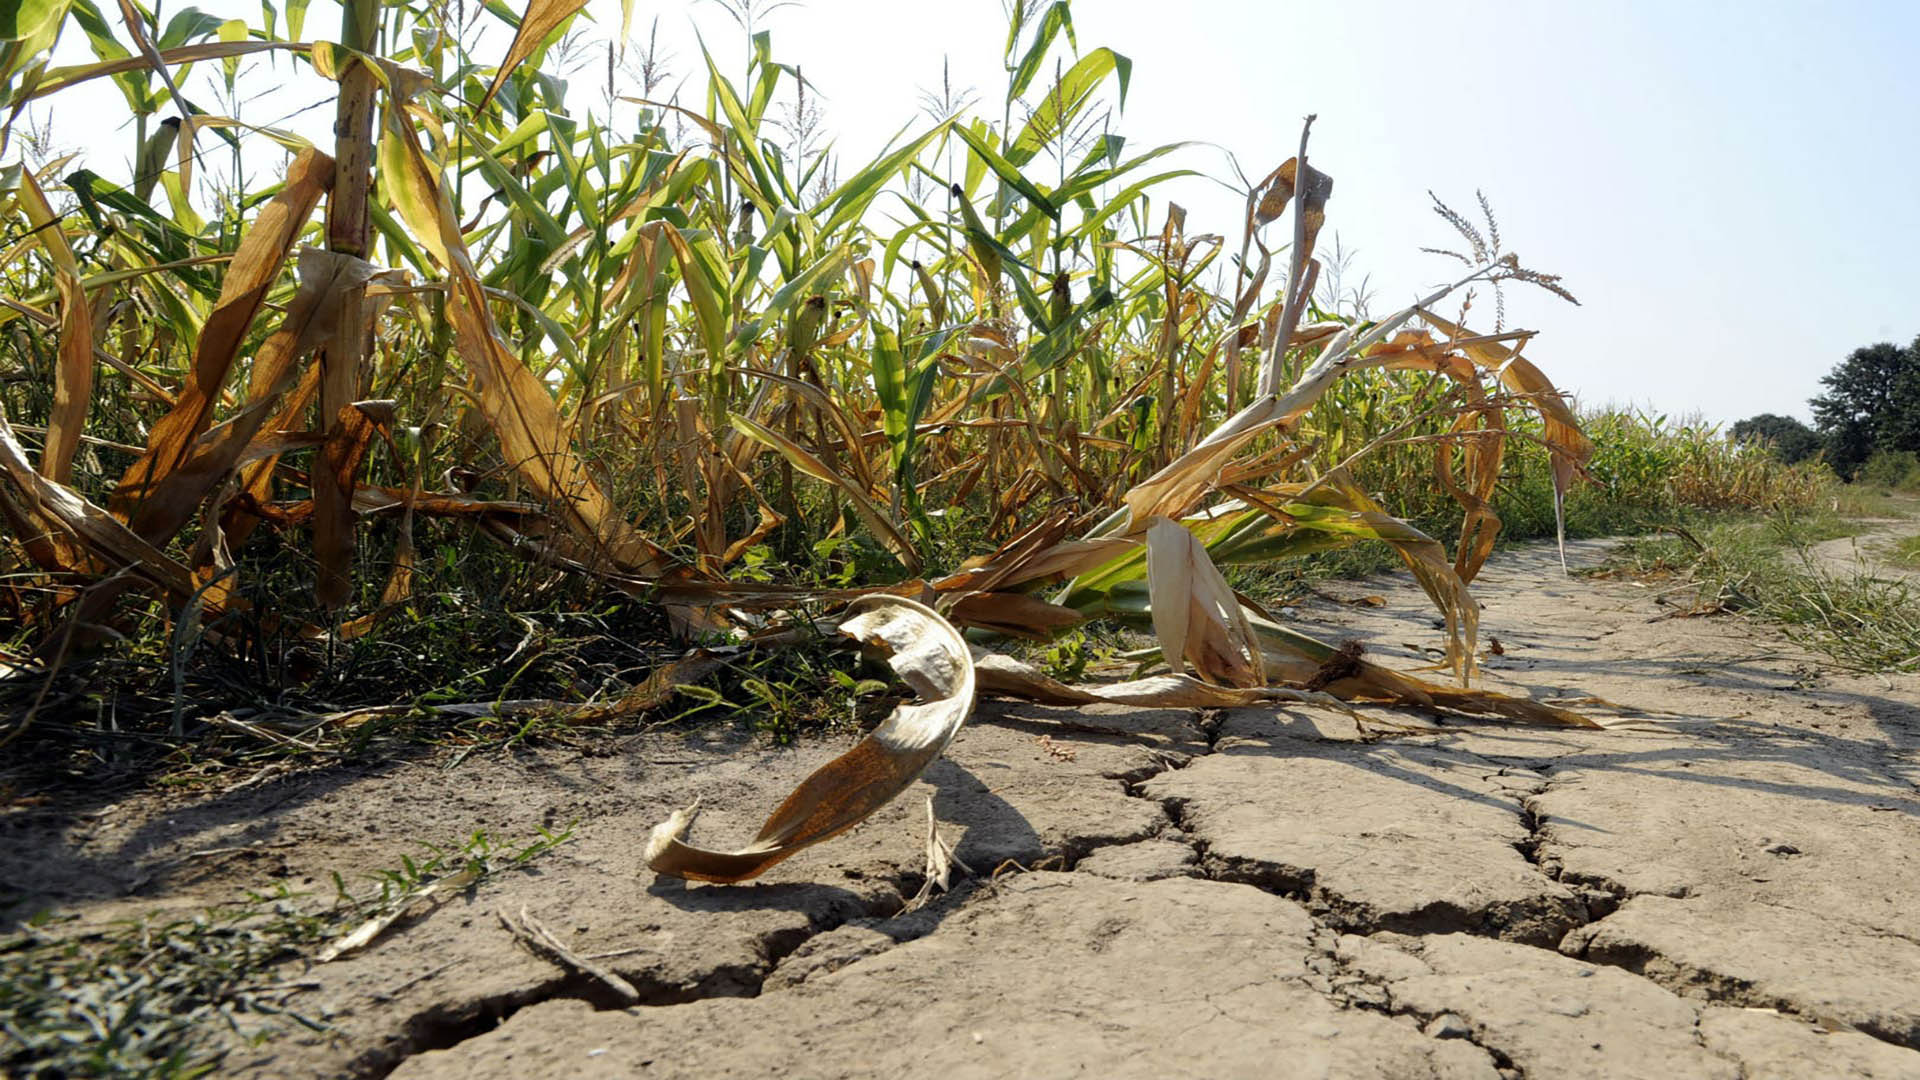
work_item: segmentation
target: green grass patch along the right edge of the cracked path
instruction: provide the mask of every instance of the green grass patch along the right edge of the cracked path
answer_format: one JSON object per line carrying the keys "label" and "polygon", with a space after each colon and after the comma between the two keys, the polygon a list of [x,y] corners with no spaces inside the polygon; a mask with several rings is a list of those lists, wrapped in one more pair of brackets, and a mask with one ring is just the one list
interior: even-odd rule
{"label": "green grass patch along the right edge of the cracked path", "polygon": [[1766,619],[1847,671],[1920,671],[1912,586],[1864,569],[1836,573],[1811,553],[1820,540],[1857,534],[1857,523],[1816,509],[1707,517],[1684,528],[1628,542],[1607,573],[1690,584],[1688,615]]}

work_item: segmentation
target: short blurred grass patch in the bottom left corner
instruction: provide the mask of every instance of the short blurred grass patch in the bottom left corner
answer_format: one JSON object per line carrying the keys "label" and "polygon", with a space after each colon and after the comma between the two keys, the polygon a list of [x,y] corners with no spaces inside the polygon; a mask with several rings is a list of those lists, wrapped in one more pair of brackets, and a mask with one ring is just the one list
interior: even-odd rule
{"label": "short blurred grass patch in the bottom left corner", "polygon": [[259,1042],[298,1024],[298,965],[372,919],[392,919],[422,894],[476,888],[566,844],[572,828],[499,846],[474,832],[449,847],[372,874],[367,888],[334,874],[332,903],[286,884],[192,917],[156,915],[61,932],[38,919],[0,940],[0,1067],[8,1076],[175,1080],[211,1072],[228,1038]]}

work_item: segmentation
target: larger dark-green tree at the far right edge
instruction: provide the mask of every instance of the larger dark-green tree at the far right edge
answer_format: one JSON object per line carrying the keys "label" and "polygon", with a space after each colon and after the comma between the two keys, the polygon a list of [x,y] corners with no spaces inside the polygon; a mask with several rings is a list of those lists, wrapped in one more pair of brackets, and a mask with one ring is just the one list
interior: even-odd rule
{"label": "larger dark-green tree at the far right edge", "polygon": [[1820,384],[1828,392],[1811,402],[1812,419],[1841,477],[1876,450],[1920,450],[1920,338],[1857,348]]}

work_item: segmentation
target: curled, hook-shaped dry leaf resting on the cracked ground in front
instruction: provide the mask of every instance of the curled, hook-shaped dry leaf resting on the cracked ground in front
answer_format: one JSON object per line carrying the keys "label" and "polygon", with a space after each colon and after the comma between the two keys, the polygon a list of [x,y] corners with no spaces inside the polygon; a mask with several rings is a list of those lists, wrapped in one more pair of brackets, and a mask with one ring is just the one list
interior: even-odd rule
{"label": "curled, hook-shaped dry leaf resting on the cracked ground in front", "polygon": [[657,874],[697,882],[758,876],[887,805],[966,724],[973,713],[973,659],[950,623],[931,607],[895,596],[862,598],[851,611],[841,632],[889,650],[887,663],[922,701],[900,705],[874,734],[820,767],[780,803],[745,847],[693,847],[682,836],[693,824],[695,807],[676,811],[647,840],[647,865]]}

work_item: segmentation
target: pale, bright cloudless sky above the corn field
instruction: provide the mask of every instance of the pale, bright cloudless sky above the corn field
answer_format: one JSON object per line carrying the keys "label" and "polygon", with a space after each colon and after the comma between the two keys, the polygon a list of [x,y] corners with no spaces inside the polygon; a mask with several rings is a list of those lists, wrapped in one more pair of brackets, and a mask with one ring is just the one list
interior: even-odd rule
{"label": "pale, bright cloudless sky above the corn field", "polygon": [[[198,6],[259,17],[253,0]],[[714,0],[634,10],[639,38],[659,19],[668,86],[689,100],[695,33],[724,69],[745,56]],[[616,33],[618,0],[588,13]],[[336,25],[317,0],[305,37]],[[1334,236],[1354,252],[1348,281],[1369,279],[1375,313],[1455,265],[1421,254],[1457,246],[1428,192],[1463,211],[1484,192],[1507,250],[1580,298],[1507,288],[1507,327],[1540,331],[1528,357],[1582,404],[1807,419],[1820,375],[1853,348],[1920,334],[1920,4],[1079,0],[1073,25],[1081,50],[1133,60],[1114,125],[1129,150],[1190,142],[1185,167],[1233,181],[1231,154],[1261,177],[1315,113],[1308,154],[1334,179],[1321,252]],[[920,94],[943,60],[998,117],[1000,0],[808,0],[760,27],[822,94],[849,161],[925,123]],[[61,60],[84,60],[79,48],[63,42]],[[106,86],[58,98],[56,140],[125,160],[123,135],[86,125],[111,104]],[[323,138],[328,119],[313,110],[288,127]],[[1221,183],[1181,179],[1158,198],[1187,208],[1188,233],[1238,248],[1242,200]],[[1492,298],[1475,311],[1480,329]]]}

